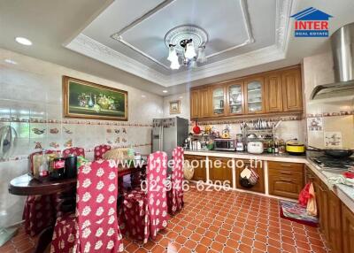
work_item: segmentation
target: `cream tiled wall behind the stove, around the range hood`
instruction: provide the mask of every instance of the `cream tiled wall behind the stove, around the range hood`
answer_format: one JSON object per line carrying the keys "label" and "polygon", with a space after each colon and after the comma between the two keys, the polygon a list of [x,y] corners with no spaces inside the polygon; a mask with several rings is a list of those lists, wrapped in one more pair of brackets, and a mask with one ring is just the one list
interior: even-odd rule
{"label": "cream tiled wall behind the stove, around the range hood", "polygon": [[[334,81],[331,52],[304,58],[303,76],[308,144],[320,149],[354,149],[353,98],[331,98],[319,102],[310,100],[314,87]],[[327,137],[333,134],[342,136],[341,143],[337,146],[328,142]]]}

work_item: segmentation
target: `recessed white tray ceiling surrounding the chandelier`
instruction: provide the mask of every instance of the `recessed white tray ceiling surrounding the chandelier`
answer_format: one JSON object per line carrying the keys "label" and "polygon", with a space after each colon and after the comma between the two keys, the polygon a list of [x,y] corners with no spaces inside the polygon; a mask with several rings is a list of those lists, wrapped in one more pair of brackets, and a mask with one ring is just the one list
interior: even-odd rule
{"label": "recessed white tray ceiling surrounding the chandelier", "polygon": [[[230,59],[240,62],[250,53],[262,58],[264,49],[269,60],[283,58],[291,7],[292,0],[119,0],[66,47],[168,87],[241,69],[245,65]],[[202,27],[209,35],[207,63],[188,76],[186,67],[171,70],[166,60],[165,35],[182,25]],[[215,72],[216,65],[224,70]]]}

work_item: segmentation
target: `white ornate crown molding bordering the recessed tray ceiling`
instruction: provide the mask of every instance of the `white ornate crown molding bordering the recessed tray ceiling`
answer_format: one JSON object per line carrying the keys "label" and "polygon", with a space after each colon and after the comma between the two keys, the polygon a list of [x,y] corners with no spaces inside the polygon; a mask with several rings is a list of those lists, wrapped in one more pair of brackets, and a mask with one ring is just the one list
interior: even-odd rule
{"label": "white ornate crown molding bordering the recessed tray ceiling", "polygon": [[[243,0],[240,1],[243,2]],[[162,4],[167,5],[172,2],[173,1],[165,1]],[[142,63],[136,61],[135,59],[128,58],[126,55],[121,54],[116,50],[112,50],[104,44],[96,42],[83,34],[78,35],[75,39],[73,39],[72,42],[66,45],[66,48],[77,51],[83,55],[89,56],[90,58],[95,58],[108,65],[127,71],[128,73],[133,73],[143,79],[158,83],[163,87],[172,87],[193,80],[208,78],[221,73],[235,72],[251,66],[284,59],[288,50],[289,32],[291,28],[289,16],[291,10],[294,10],[293,8],[295,8],[295,5],[296,0],[276,0],[276,32],[275,44],[273,46],[253,50],[233,58],[227,58],[212,64],[200,66],[196,70],[186,70],[181,73],[172,73],[171,75],[159,73],[149,66],[142,65]],[[155,12],[150,11],[147,14],[150,16],[154,13]],[[139,22],[146,19],[145,15],[139,19]],[[248,15],[244,17],[248,17]]]}

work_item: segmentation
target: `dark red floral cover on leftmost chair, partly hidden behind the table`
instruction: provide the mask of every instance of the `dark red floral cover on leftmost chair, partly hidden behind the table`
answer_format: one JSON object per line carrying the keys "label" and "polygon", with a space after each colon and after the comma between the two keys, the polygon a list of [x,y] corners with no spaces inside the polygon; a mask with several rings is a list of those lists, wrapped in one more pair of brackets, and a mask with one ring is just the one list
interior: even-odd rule
{"label": "dark red floral cover on leftmost chair, partly hidden behind the table", "polygon": [[[46,150],[45,154],[52,154],[55,150]],[[42,151],[34,152],[29,155],[28,162],[31,173],[34,172],[33,158],[35,155],[42,154]],[[53,201],[56,195],[48,196],[27,196],[22,219],[25,220],[25,231],[31,236],[39,234],[48,226],[55,222],[56,210]]]}

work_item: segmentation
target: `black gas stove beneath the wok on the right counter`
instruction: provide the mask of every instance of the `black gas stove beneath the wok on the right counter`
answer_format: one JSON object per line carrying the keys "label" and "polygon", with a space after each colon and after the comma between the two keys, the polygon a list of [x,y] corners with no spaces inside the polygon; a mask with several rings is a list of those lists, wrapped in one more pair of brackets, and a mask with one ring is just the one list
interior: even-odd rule
{"label": "black gas stove beneath the wok on the right counter", "polygon": [[326,171],[354,171],[354,158],[310,157],[310,159]]}

